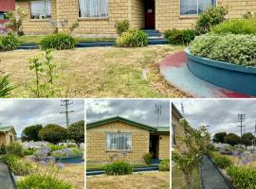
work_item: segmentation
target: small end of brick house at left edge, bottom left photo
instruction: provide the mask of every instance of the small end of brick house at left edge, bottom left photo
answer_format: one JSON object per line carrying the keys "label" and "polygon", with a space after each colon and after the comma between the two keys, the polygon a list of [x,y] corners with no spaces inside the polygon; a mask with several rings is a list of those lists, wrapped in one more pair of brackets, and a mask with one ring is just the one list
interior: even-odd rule
{"label": "small end of brick house at left edge, bottom left photo", "polygon": [[0,127],[0,146],[15,142],[16,131],[12,126]]}

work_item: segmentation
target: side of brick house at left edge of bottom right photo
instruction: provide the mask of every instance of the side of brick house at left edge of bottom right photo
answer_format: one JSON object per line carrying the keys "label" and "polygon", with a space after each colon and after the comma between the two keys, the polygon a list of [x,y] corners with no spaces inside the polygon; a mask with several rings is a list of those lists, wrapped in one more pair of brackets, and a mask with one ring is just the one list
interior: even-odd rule
{"label": "side of brick house at left edge of bottom right photo", "polygon": [[184,129],[180,125],[180,119],[184,118],[183,115],[177,110],[172,103],[172,147],[181,148],[182,136],[184,136]]}

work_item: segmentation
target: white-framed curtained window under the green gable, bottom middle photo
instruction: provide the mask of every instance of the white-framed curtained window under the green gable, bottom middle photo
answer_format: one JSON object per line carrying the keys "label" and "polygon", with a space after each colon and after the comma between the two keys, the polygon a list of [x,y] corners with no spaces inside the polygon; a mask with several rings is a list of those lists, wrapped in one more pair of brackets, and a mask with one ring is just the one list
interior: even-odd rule
{"label": "white-framed curtained window under the green gable, bottom middle photo", "polygon": [[[121,145],[119,145],[119,142],[121,142],[121,141],[118,142],[118,137],[117,136],[119,136],[121,134],[123,134],[124,137],[128,136],[129,148],[125,148],[125,147],[124,148],[118,148],[118,146],[121,146]],[[112,138],[109,139],[108,137],[112,137],[116,141],[116,143],[111,144],[111,141],[113,141],[113,140],[111,140]],[[110,140],[110,144],[109,144],[110,147],[108,146],[108,140]],[[122,144],[122,145],[125,146],[125,144]],[[107,132],[106,133],[106,150],[131,151],[132,150],[132,134],[130,132]]]}

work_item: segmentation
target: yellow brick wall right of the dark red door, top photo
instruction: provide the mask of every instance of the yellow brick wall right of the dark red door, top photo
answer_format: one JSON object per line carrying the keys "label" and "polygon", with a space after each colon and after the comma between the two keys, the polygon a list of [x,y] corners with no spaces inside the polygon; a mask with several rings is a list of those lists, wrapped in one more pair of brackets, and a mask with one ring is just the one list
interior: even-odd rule
{"label": "yellow brick wall right of the dark red door, top photo", "polygon": [[[229,18],[242,18],[250,11],[256,11],[255,0],[219,0],[222,5],[229,6]],[[164,31],[170,28],[191,28],[197,16],[180,16],[180,0],[155,1],[155,28]]]}

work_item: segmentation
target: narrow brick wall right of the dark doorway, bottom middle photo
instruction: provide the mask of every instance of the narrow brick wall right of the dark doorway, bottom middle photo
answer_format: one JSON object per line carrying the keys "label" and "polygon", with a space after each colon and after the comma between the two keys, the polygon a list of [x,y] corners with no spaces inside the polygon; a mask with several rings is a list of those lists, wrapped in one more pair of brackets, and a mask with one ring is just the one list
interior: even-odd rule
{"label": "narrow brick wall right of the dark doorway, bottom middle photo", "polygon": [[170,159],[170,135],[159,134],[159,159]]}

